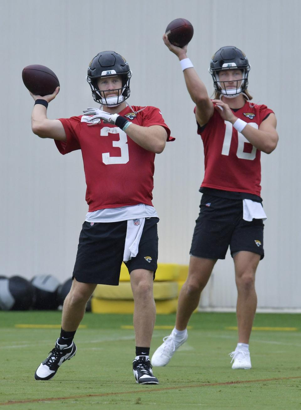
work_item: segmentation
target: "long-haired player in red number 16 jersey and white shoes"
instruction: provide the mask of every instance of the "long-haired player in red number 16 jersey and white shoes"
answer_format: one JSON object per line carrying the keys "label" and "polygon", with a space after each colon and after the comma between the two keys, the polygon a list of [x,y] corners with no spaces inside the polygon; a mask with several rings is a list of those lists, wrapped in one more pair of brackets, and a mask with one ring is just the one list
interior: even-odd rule
{"label": "long-haired player in red number 16 jersey and white shoes", "polygon": [[217,259],[230,246],[238,290],[236,306],[238,344],[230,353],[232,369],[250,369],[249,338],[256,312],[255,273],[263,251],[260,197],[260,152],[271,153],[277,145],[276,117],[265,105],[250,103],[247,91],[250,65],[236,47],[220,48],[210,62],[215,88],[211,100],[190,59],[187,46],[165,45],[180,60],[186,87],[196,104],[197,133],[204,144],[205,175],[199,217],[190,248],[188,278],[178,302],[172,333],[152,356],[153,366],[165,366],[187,337],[187,325],[199,304]]}

